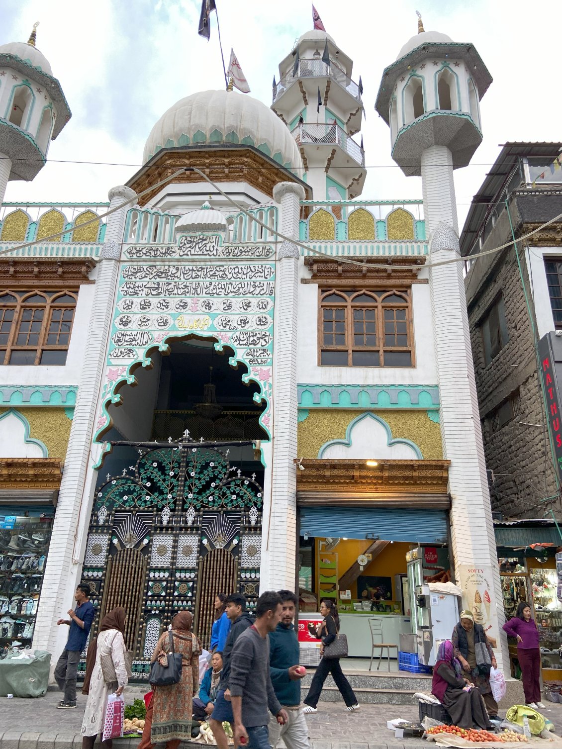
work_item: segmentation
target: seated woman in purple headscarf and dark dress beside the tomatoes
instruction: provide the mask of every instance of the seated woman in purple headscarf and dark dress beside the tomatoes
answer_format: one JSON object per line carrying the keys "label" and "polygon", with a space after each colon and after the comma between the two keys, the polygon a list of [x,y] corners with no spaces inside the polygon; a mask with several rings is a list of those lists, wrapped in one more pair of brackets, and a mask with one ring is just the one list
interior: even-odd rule
{"label": "seated woman in purple headscarf and dark dress beside the tomatoes", "polygon": [[439,646],[433,667],[432,694],[447,710],[453,725],[493,730],[480,690],[463,679],[462,666],[455,658],[450,640],[444,640]]}

